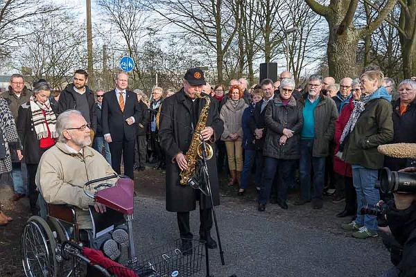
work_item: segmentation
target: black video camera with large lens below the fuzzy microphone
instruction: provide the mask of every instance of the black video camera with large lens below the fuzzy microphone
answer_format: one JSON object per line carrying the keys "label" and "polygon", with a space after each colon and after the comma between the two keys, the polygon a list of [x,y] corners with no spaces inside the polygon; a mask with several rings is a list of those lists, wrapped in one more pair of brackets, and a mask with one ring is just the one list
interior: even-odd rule
{"label": "black video camera with large lens below the fuzzy microphone", "polygon": [[414,172],[397,172],[389,168],[379,170],[381,193],[416,193],[416,174]]}

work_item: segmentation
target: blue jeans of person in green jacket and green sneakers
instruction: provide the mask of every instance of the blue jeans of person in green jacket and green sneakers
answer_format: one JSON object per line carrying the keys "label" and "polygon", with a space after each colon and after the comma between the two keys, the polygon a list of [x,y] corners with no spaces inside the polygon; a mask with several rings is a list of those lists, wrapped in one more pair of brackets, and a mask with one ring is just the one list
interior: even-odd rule
{"label": "blue jeans of person in green jacket and green sneakers", "polygon": [[361,207],[374,206],[380,200],[380,193],[374,186],[377,183],[378,170],[352,166],[352,181],[357,193],[356,223],[367,229],[377,231],[377,217],[375,215],[361,215]]}

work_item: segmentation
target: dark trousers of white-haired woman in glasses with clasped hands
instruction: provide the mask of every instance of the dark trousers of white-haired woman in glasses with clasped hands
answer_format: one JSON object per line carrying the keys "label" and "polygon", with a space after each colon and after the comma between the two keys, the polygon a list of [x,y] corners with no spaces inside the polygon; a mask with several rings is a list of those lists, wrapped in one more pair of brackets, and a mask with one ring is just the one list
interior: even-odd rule
{"label": "dark trousers of white-haired woman in glasses with clasped hands", "polygon": [[289,182],[295,178],[293,173],[293,164],[296,160],[283,160],[271,157],[264,157],[263,179],[261,182],[261,190],[259,195],[259,203],[266,204],[270,198],[270,190],[273,180],[275,180],[276,170],[278,170],[279,186],[277,189],[277,197],[286,201],[288,195]]}

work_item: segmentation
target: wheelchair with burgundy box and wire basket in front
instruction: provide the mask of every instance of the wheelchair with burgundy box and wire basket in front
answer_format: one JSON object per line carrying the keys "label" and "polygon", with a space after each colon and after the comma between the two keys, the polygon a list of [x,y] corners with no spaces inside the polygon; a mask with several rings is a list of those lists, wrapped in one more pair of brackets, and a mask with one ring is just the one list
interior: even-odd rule
{"label": "wheelchair with burgundy box and wire basket in front", "polygon": [[[117,178],[116,184],[107,184]],[[93,184],[100,183],[96,186]],[[94,195],[89,193],[95,191]],[[198,273],[205,242],[193,241],[182,249],[165,245],[150,253],[140,253],[138,260],[133,238],[134,182],[128,177],[112,175],[87,182],[84,192],[106,206],[103,214],[89,208],[92,229],[80,229],[80,213],[69,205],[47,205],[43,217],[29,218],[21,235],[21,260],[27,277],[83,277],[95,271],[106,277],[189,277]],[[89,275],[90,276],[90,275]],[[207,274],[209,276],[209,274]]]}

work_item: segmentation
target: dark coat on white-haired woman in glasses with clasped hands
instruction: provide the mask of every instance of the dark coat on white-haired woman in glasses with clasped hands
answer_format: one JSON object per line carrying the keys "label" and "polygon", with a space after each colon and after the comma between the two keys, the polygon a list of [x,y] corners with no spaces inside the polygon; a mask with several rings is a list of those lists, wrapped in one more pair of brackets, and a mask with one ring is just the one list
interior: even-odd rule
{"label": "dark coat on white-haired woman in glasses with clasped hands", "polygon": [[[293,96],[288,105],[283,105],[280,96],[270,100],[265,114],[267,127],[266,143],[263,146],[263,156],[275,159],[300,158],[300,131],[303,126],[302,105]],[[280,145],[283,129],[291,129],[294,134]]]}

